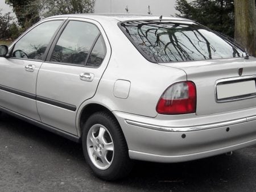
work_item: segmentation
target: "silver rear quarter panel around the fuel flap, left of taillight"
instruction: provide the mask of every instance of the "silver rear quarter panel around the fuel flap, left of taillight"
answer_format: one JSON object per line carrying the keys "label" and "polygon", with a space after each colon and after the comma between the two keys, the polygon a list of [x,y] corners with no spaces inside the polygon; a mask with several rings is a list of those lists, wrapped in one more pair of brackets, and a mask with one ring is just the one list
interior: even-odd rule
{"label": "silver rear quarter panel around the fuel flap, left of taillight", "polygon": [[[99,103],[110,111],[155,117],[156,105],[168,86],[186,81],[183,70],[170,68],[147,61],[123,34],[117,21],[102,23],[110,41],[112,56],[96,91],[96,95],[82,104]],[[117,80],[130,81],[130,92],[126,99],[113,94]]]}

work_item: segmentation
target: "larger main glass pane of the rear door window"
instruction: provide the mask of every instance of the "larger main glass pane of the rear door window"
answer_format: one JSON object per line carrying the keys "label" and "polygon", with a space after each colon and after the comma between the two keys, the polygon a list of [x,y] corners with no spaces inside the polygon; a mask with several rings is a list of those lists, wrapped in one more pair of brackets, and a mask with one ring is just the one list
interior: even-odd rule
{"label": "larger main glass pane of the rear door window", "polygon": [[100,31],[92,23],[70,21],[57,41],[50,61],[85,65],[98,34]]}

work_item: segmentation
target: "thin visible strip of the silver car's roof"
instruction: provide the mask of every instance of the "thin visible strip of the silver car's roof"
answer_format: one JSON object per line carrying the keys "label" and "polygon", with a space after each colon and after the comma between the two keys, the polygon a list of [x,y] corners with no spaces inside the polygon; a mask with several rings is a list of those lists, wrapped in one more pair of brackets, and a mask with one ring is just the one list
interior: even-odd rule
{"label": "thin visible strip of the silver car's roof", "polygon": [[[117,22],[125,22],[127,20],[160,20],[161,15],[134,15],[134,14],[68,14],[68,15],[56,15],[51,18],[60,17],[75,17],[75,18],[87,18],[95,20],[116,20]],[[180,20],[191,21],[189,19],[178,18],[175,16],[162,16],[162,20]]]}

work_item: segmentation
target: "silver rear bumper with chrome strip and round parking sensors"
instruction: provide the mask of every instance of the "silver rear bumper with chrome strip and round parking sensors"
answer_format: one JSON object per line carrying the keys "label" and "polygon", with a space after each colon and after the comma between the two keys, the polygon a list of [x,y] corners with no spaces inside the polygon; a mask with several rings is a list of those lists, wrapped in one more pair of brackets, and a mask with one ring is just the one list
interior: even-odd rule
{"label": "silver rear bumper with chrome strip and round parking sensors", "polygon": [[[256,116],[242,116],[204,124],[209,118],[191,119],[191,126],[180,119],[160,120],[114,112],[126,137],[132,159],[181,162],[234,151],[256,144]],[[223,115],[223,119],[225,114]],[[211,121],[214,118],[211,119]],[[220,121],[220,118],[216,118]],[[170,126],[167,126],[167,125]]]}

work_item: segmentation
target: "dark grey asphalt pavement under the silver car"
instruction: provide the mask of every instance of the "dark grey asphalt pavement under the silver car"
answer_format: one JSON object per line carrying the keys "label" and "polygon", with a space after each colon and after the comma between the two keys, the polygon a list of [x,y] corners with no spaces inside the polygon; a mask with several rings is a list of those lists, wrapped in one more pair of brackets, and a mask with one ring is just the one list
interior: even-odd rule
{"label": "dark grey asphalt pavement under the silver car", "polygon": [[138,161],[123,180],[102,181],[80,144],[0,116],[0,191],[256,191],[255,175],[256,146],[178,164]]}

